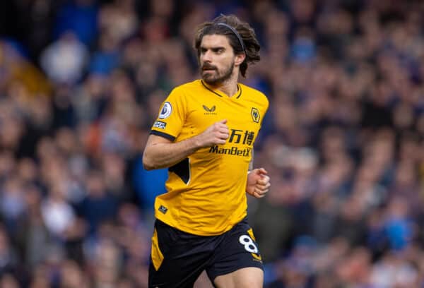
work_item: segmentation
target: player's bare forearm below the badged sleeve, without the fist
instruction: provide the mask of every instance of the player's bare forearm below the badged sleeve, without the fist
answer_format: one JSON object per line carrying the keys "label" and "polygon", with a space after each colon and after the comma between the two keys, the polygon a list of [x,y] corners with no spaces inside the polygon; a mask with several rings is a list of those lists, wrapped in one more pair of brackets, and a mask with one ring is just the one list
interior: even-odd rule
{"label": "player's bare forearm below the badged sleeve, without the fist", "polygon": [[153,143],[144,150],[143,165],[146,170],[170,167],[199,148],[196,137],[177,143]]}

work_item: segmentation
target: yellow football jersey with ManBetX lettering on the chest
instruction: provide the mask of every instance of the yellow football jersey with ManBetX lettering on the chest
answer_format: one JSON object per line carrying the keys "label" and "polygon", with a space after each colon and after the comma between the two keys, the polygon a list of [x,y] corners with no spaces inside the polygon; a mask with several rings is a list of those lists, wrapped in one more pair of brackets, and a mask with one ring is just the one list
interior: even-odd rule
{"label": "yellow football jersey with ManBetX lettering on the chest", "polygon": [[167,193],[155,200],[155,216],[184,232],[222,234],[247,215],[247,170],[269,102],[258,90],[237,85],[232,97],[202,80],[180,85],[153,124],[152,134],[179,142],[228,120],[225,145],[199,149],[170,167]]}

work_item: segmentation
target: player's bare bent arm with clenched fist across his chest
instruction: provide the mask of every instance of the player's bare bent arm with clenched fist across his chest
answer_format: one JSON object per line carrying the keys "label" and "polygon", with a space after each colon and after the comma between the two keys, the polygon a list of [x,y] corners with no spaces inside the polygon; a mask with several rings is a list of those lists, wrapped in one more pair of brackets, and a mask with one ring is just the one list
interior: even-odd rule
{"label": "player's bare bent arm with clenched fist across his chest", "polygon": [[143,152],[144,168],[152,170],[171,167],[200,148],[225,144],[229,136],[226,123],[227,120],[218,121],[209,126],[203,133],[176,143],[151,134],[148,136],[146,148]]}

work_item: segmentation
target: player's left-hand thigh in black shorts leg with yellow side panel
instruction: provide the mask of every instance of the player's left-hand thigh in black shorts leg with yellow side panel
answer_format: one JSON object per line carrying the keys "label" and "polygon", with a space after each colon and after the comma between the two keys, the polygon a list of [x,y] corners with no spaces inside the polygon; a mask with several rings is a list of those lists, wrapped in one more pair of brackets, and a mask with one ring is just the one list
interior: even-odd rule
{"label": "player's left-hand thigh in black shorts leg with yellow side panel", "polygon": [[210,237],[181,232],[156,221],[152,237],[148,287],[190,287],[212,256]]}

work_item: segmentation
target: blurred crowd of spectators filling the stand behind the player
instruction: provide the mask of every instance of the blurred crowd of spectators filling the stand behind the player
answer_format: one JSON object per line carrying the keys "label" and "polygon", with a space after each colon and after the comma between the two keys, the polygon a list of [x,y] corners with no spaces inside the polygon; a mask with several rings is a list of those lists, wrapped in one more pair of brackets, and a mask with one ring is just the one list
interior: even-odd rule
{"label": "blurred crowd of spectators filling the stand behind the player", "polygon": [[220,13],[262,46],[265,287],[423,287],[418,0],[0,1],[0,287],[146,287],[167,171],[143,145]]}

